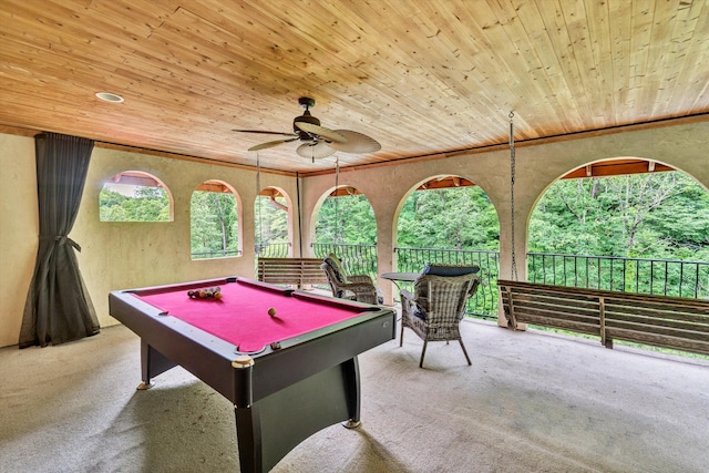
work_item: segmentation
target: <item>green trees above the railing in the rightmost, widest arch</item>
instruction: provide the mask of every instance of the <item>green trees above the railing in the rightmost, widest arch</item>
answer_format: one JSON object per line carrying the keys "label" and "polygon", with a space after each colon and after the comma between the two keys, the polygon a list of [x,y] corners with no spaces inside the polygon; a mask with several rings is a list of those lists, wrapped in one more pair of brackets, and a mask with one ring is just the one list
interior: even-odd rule
{"label": "green trees above the railing in the rightmost, widest arch", "polygon": [[709,194],[678,173],[555,183],[530,220],[532,253],[707,260]]}

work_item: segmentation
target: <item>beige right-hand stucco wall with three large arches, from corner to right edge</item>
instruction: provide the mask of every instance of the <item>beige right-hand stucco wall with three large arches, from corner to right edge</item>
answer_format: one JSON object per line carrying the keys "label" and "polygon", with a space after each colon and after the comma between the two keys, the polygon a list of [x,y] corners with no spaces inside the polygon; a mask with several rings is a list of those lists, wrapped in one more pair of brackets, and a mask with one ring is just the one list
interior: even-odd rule
{"label": "beige right-hand stucco wall with three large arches, from corner to right edge", "polygon": [[[596,137],[568,140],[515,147],[515,255],[517,276],[526,279],[526,226],[534,206],[556,179],[572,169],[592,162],[639,157],[668,164],[693,176],[709,187],[709,122],[667,126],[644,131],[608,134]],[[458,175],[477,184],[490,197],[500,219],[501,277],[508,278],[512,267],[511,236],[511,166],[510,152],[495,151],[398,166],[372,167],[363,171],[343,169],[340,185],[353,186],[369,199],[378,224],[378,244],[392,247],[399,210],[409,194],[423,181],[436,175]],[[305,209],[317,207],[322,195],[335,187],[335,177],[310,177],[305,186]],[[316,208],[317,210],[317,208]],[[310,245],[314,218],[304,219],[304,241]],[[395,246],[395,243],[393,244]],[[517,257],[518,258],[518,257]],[[390,251],[379,250],[379,273],[393,269]],[[386,300],[391,300],[392,284],[380,279],[379,287]]]}

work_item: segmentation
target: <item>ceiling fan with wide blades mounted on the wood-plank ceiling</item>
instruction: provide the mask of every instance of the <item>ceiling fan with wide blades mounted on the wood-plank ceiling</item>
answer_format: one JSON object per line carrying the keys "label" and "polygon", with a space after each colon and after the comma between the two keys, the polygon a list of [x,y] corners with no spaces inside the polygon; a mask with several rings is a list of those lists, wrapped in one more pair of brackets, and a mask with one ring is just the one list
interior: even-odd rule
{"label": "ceiling fan with wide blades mounted on the wood-plank ceiling", "polygon": [[239,133],[260,133],[266,135],[282,135],[282,140],[276,140],[251,146],[248,151],[259,151],[278,146],[284,143],[299,141],[301,144],[296,148],[299,156],[319,160],[328,157],[336,151],[343,153],[372,153],[381,150],[377,140],[362,133],[351,130],[330,130],[320,126],[320,121],[310,114],[310,109],[315,106],[315,99],[301,96],[298,103],[306,111],[302,115],[296,116],[292,121],[292,133],[266,132],[260,130],[234,130]]}

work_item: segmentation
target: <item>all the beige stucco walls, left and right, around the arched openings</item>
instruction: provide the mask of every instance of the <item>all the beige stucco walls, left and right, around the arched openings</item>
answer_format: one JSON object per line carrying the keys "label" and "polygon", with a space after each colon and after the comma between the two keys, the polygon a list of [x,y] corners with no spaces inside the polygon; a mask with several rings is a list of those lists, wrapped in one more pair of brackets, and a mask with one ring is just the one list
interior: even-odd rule
{"label": "all the beige stucco walls, left and right, around the arched openings", "polygon": [[[623,156],[655,160],[692,175],[709,187],[707,142],[709,122],[635,131],[516,148],[515,253],[526,254],[526,223],[546,188],[559,176],[585,164]],[[27,289],[37,253],[37,182],[32,138],[0,134],[0,346],[17,343]],[[99,222],[99,192],[121,171],[144,171],[163,181],[173,194],[175,219],[161,224]],[[495,151],[441,160],[411,162],[340,173],[339,184],[357,187],[369,198],[378,225],[380,273],[393,270],[397,217],[409,194],[436,175],[459,175],[476,183],[497,210],[501,228],[501,276],[510,276],[511,205],[510,153]],[[204,181],[232,185],[240,197],[244,256],[217,260],[189,259],[189,197]],[[261,173],[261,187],[285,189],[297,204],[296,179]],[[311,255],[314,213],[335,187],[335,175],[302,179],[302,248]],[[172,284],[226,275],[254,275],[255,172],[94,148],[88,183],[71,237],[82,247],[79,261],[102,326],[115,323],[107,315],[113,289]],[[295,214],[294,226],[298,218]],[[298,248],[294,229],[294,248]],[[297,251],[296,251],[297,253]],[[517,263],[521,279],[524,265]],[[392,284],[378,281],[387,300]]]}

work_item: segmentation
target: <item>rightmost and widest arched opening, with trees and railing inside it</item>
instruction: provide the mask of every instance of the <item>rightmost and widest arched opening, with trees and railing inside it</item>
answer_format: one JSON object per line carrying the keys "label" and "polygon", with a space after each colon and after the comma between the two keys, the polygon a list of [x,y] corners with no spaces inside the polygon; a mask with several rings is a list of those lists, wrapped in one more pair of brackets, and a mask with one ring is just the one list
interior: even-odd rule
{"label": "rightmost and widest arched opening, with trees and railing inside it", "polygon": [[527,264],[533,282],[709,297],[709,193],[647,160],[575,169],[537,202]]}

